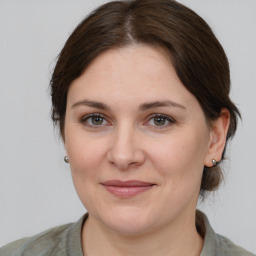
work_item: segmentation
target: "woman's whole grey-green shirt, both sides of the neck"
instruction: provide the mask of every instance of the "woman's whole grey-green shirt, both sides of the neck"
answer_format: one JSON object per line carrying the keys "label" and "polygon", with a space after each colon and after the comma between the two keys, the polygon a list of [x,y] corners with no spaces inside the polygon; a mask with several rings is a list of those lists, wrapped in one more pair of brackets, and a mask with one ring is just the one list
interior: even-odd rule
{"label": "woman's whole grey-green shirt, both sides of the neck", "polygon": [[[83,256],[81,231],[87,217],[7,244],[0,248],[0,256]],[[197,211],[197,219],[198,232],[204,235],[200,256],[256,256],[216,234],[202,212]]]}

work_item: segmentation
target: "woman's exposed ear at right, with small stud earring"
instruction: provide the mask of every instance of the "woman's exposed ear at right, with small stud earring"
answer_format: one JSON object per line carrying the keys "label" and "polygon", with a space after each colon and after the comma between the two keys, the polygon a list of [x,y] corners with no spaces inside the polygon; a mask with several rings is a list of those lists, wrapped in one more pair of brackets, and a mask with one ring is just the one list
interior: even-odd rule
{"label": "woman's exposed ear at right, with small stud earring", "polygon": [[210,140],[208,153],[205,158],[204,165],[212,167],[212,159],[219,162],[226,145],[226,138],[230,124],[230,113],[226,108],[220,112],[218,119],[214,120],[211,125]]}

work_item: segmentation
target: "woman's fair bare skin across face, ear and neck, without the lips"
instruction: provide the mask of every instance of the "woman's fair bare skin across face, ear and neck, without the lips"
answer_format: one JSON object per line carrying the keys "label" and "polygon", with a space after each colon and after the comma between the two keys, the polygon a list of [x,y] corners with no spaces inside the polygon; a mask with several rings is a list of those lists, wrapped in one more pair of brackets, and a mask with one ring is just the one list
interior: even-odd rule
{"label": "woman's fair bare skin across face, ear and neck, without the lips", "polygon": [[[161,48],[132,45],[96,57],[69,88],[64,127],[74,186],[89,212],[84,254],[200,255],[202,172],[221,159],[228,126],[225,109],[207,123]],[[102,185],[107,180],[154,186],[121,197]]]}

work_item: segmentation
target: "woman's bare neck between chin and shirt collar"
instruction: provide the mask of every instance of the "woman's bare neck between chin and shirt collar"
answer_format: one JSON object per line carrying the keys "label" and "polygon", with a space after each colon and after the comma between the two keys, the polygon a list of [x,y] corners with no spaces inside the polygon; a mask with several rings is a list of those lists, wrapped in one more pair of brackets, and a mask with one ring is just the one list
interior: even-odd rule
{"label": "woman's bare neck between chin and shirt collar", "polygon": [[85,256],[199,256],[203,239],[197,233],[194,218],[176,221],[148,233],[116,233],[89,216],[82,232]]}

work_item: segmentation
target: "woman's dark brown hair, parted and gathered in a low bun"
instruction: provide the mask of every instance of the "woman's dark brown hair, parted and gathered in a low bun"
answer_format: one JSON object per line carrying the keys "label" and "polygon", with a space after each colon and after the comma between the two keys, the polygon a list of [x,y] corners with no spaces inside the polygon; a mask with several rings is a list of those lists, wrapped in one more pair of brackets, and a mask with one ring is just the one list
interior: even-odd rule
{"label": "woman's dark brown hair, parted and gathered in a low bun", "polygon": [[[89,14],[59,54],[50,85],[52,120],[63,139],[67,93],[72,81],[102,52],[132,44],[164,48],[180,81],[196,97],[206,119],[214,121],[222,108],[228,109],[227,140],[235,134],[240,113],[229,98],[229,63],[208,24],[174,0],[124,0],[109,2]],[[205,167],[200,194],[217,189],[221,180],[219,165]]]}

